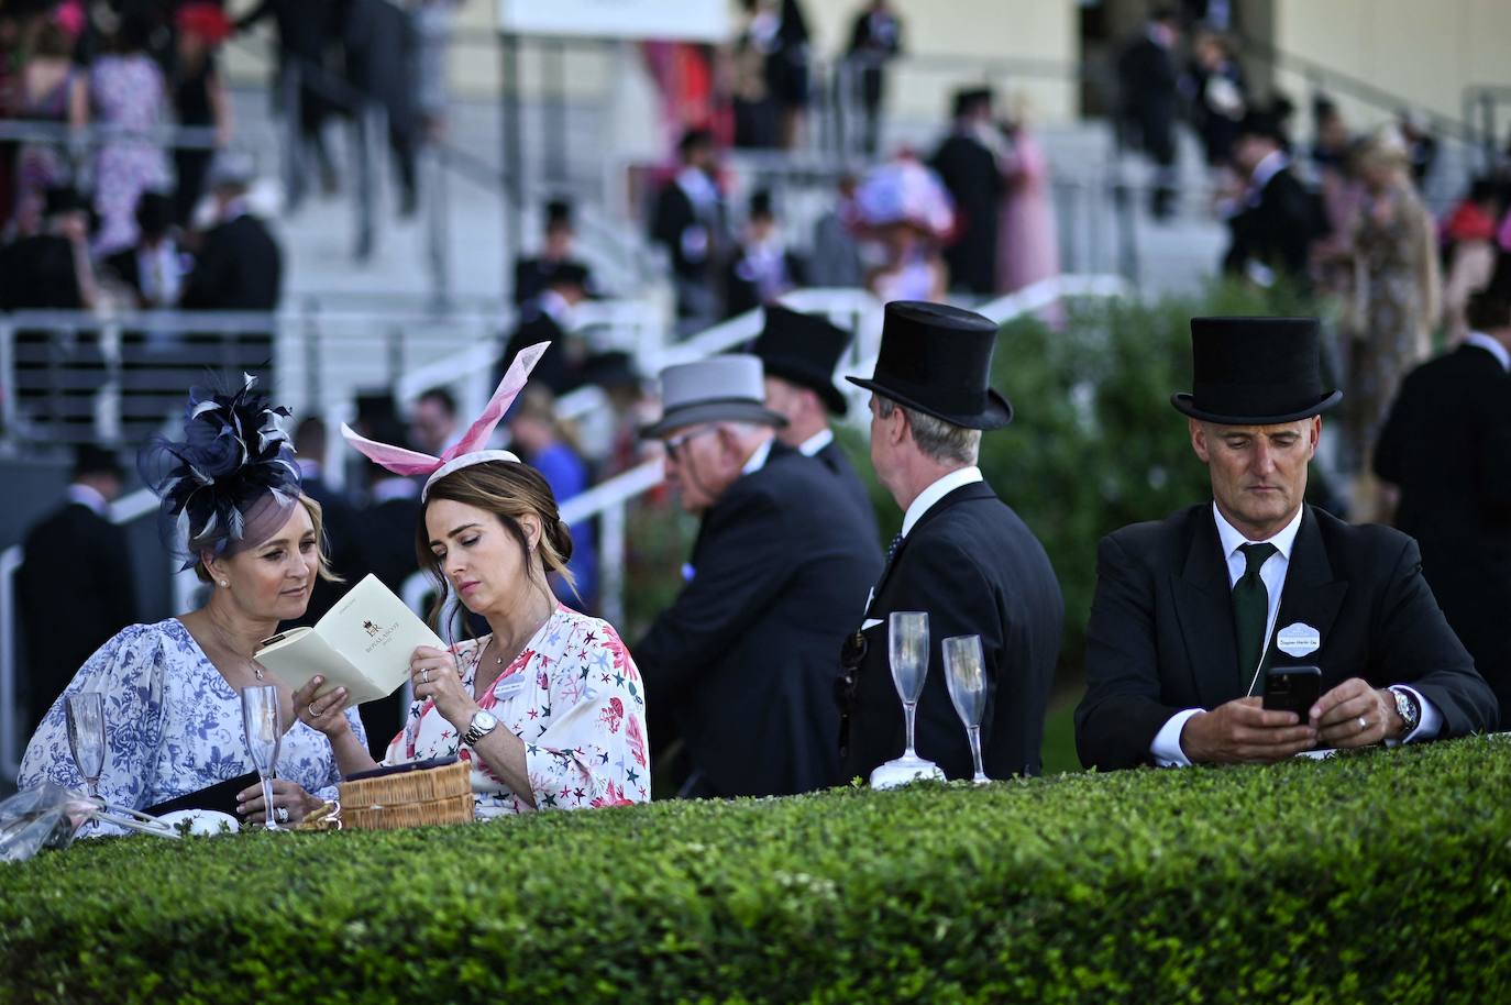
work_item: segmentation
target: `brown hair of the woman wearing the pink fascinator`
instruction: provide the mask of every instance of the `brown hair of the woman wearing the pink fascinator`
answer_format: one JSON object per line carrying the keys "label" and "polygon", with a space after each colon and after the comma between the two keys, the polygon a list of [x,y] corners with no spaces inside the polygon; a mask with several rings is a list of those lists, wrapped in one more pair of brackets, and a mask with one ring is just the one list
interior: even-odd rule
{"label": "brown hair of the woman wearing the pink fascinator", "polygon": [[[577,591],[571,570],[567,568],[573,550],[571,530],[561,518],[556,496],[545,478],[529,464],[515,461],[468,464],[431,485],[414,535],[414,550],[420,559],[420,568],[431,574],[437,586],[429,617],[431,626],[437,630],[440,630],[441,611],[446,606],[446,573],[441,570],[441,559],[431,550],[431,533],[425,527],[425,512],[437,499],[476,506],[497,517],[503,529],[518,543],[520,558],[524,559],[524,567],[532,579],[535,579],[536,565],[530,556],[530,540],[524,533],[524,527],[520,526],[520,517],[535,514],[541,521],[541,568],[545,573],[558,573],[573,588],[573,592]],[[550,589],[544,583],[544,576],[536,585]]]}

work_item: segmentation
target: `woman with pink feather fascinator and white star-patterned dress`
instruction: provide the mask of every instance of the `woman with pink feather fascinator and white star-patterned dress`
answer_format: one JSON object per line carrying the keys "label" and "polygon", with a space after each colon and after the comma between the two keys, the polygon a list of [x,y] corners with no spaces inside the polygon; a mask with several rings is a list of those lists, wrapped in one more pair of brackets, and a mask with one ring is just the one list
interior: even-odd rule
{"label": "woman with pink feather fascinator and white star-patterned dress", "polygon": [[[428,476],[416,543],[441,586],[432,623],[449,588],[491,629],[447,650],[414,651],[414,704],[384,759],[470,762],[479,819],[650,799],[635,662],[610,624],[552,594],[548,573],[571,580],[573,543],[545,479],[508,450],[485,449],[547,345],[518,354],[482,417],[440,458],[341,429],[385,468]],[[338,713],[345,692],[316,697],[322,683],[316,677],[295,695],[301,721],[326,733],[343,774],[376,768]]]}

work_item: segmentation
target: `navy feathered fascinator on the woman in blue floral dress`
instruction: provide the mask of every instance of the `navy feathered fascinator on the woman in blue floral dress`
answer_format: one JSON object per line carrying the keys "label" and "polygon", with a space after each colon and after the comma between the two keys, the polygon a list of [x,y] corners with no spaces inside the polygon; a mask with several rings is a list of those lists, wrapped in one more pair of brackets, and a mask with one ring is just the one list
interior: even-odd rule
{"label": "navy feathered fascinator on the woman in blue floral dress", "polygon": [[201,552],[216,556],[255,547],[278,532],[299,500],[299,467],[283,420],[242,375],[228,394],[195,387],[184,410],[184,438],[153,437],[136,455],[142,482],[162,500],[165,547],[192,568]]}

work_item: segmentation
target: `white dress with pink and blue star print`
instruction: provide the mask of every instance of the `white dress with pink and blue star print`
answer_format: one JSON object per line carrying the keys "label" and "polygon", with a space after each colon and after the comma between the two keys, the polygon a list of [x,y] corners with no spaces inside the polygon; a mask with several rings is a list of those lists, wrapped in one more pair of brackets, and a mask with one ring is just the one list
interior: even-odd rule
{"label": "white dress with pink and blue star print", "polygon": [[[524,742],[536,809],[627,806],[651,798],[645,742],[645,686],[618,632],[607,621],[565,606],[541,626],[487,694],[477,697],[477,654],[488,636],[459,642],[462,688],[499,716],[499,728]],[[416,703],[384,763],[458,756],[471,762],[477,819],[526,813],[515,795],[432,701]]]}

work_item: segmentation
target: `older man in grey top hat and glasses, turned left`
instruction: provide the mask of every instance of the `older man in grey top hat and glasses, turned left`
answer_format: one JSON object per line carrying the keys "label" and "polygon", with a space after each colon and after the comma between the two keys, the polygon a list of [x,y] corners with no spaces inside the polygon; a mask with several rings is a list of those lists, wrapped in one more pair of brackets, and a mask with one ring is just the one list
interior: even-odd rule
{"label": "older man in grey top hat and glasses, turned left", "polygon": [[653,748],[684,741],[688,795],[786,795],[836,784],[836,653],[881,555],[817,461],[783,446],[760,360],[662,373],[666,476],[701,517],[686,586],[632,648]]}

